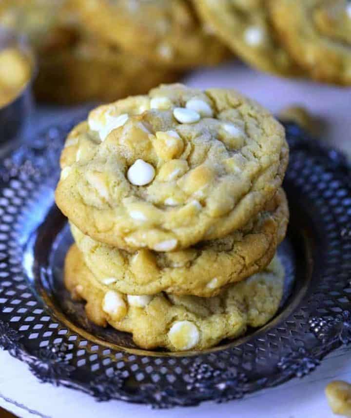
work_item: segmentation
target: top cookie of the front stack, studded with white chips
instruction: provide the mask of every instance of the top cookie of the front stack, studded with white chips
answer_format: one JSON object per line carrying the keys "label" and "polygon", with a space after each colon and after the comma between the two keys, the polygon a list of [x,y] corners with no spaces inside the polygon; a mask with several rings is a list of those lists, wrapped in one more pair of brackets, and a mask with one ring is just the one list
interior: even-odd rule
{"label": "top cookie of the front stack, studded with white chips", "polygon": [[132,251],[174,251],[242,227],[288,162],[284,129],[261,106],[181,84],[98,107],[68,141],[59,208],[86,235]]}

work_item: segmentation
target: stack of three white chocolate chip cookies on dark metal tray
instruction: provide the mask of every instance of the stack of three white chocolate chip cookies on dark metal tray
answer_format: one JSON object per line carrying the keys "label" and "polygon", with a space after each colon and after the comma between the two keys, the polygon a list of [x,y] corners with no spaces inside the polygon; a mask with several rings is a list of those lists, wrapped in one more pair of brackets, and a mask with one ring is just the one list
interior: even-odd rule
{"label": "stack of three white chocolate chip cookies on dark metal tray", "polygon": [[233,90],[162,85],[68,136],[65,284],[143,348],[205,349],[276,313],[289,212],[282,126]]}

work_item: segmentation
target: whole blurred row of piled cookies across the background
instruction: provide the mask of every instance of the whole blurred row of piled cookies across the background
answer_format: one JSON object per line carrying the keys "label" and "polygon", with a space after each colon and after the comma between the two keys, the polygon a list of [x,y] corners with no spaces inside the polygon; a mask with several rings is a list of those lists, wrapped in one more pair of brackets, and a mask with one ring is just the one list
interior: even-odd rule
{"label": "whole blurred row of piled cookies across the background", "polygon": [[44,101],[142,94],[233,54],[278,76],[351,84],[347,0],[2,0],[1,26],[31,42]]}

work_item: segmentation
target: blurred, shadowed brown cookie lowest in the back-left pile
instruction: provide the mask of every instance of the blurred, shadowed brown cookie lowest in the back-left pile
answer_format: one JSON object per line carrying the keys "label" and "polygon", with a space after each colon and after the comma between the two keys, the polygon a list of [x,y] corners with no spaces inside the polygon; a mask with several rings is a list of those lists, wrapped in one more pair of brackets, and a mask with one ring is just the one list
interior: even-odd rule
{"label": "blurred, shadowed brown cookie lowest in the back-left pile", "polygon": [[61,104],[117,100],[181,77],[179,72],[156,67],[118,47],[79,38],[69,30],[52,33],[38,60],[36,97]]}

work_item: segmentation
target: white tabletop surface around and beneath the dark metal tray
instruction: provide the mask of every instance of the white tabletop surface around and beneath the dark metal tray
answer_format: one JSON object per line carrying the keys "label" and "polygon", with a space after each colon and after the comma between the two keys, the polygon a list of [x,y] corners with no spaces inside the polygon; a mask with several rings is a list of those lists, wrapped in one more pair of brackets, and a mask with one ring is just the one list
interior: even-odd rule
{"label": "white tabletop surface around and beneath the dark metal tray", "polygon": [[[350,88],[282,80],[254,72],[237,63],[196,71],[185,82],[196,87],[234,87],[274,113],[289,104],[304,105],[325,120],[324,139],[343,148],[351,156]],[[57,115],[59,121],[64,112],[58,112]],[[99,403],[77,391],[39,383],[25,364],[6,352],[0,352],[0,406],[23,418],[330,418],[334,415],[324,396],[324,388],[332,379],[351,381],[350,360],[351,350],[342,348],[331,353],[309,376],[292,379],[277,388],[257,392],[245,399],[219,405],[206,402],[193,408],[157,411],[119,401]]]}

